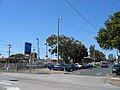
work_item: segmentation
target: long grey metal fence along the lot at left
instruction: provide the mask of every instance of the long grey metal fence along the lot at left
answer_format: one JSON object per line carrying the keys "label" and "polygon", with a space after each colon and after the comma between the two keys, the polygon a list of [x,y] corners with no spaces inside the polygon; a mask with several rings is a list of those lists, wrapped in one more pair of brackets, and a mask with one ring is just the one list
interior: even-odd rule
{"label": "long grey metal fence along the lot at left", "polygon": [[0,63],[1,72],[29,72],[34,69],[44,68],[43,63]]}

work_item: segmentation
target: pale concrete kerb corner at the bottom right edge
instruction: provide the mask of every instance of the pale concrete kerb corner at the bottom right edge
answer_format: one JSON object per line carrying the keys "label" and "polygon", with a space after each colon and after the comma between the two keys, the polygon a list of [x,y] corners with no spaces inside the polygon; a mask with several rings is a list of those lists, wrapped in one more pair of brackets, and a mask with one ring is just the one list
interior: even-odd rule
{"label": "pale concrete kerb corner at the bottom right edge", "polygon": [[108,83],[119,86],[120,87],[120,76],[116,76],[113,74],[107,74],[107,81]]}

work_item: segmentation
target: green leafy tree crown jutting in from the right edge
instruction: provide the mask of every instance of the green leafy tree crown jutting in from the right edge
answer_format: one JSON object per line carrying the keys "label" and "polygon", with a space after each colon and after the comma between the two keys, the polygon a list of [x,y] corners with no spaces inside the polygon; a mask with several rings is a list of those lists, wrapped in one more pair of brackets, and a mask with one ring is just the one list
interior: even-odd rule
{"label": "green leafy tree crown jutting in from the right edge", "polygon": [[99,46],[103,49],[118,49],[120,51],[120,11],[114,13],[105,22],[96,36]]}

